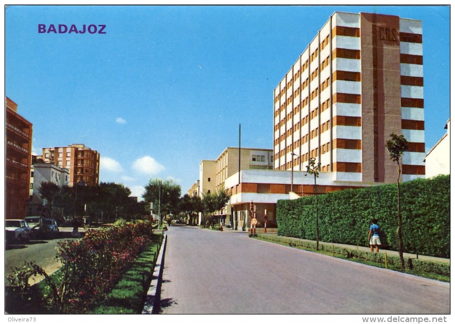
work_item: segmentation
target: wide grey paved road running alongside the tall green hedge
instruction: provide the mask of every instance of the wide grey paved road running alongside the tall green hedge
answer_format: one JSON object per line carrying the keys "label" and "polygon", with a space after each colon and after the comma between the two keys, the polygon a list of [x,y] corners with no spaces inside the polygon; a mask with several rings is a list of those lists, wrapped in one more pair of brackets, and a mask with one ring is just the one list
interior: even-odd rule
{"label": "wide grey paved road running alongside the tall green hedge", "polygon": [[170,227],[161,313],[446,314],[450,286],[250,239]]}

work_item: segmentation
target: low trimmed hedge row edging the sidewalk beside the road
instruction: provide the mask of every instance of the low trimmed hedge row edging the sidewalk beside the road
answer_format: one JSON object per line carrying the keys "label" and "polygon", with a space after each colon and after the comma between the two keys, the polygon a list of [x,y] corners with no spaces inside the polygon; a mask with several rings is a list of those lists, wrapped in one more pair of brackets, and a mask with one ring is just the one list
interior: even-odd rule
{"label": "low trimmed hedge row edging the sidewalk beside the road", "polygon": [[[304,249],[316,250],[316,243],[313,241],[302,241],[297,238],[279,237],[270,234],[257,234],[259,239],[272,241],[292,247],[301,247]],[[385,265],[385,254],[384,253],[371,253],[368,251],[361,251],[355,249],[349,249],[344,247],[333,246],[332,244],[320,244],[320,250],[333,253],[334,256],[341,256],[346,259],[360,259],[365,261],[371,261],[378,265]],[[389,269],[399,270],[401,269],[401,262],[399,256],[388,255],[387,265]],[[426,260],[418,259],[406,259],[406,269],[422,271],[426,273],[435,273],[443,276],[450,276],[450,264],[438,263]]]}

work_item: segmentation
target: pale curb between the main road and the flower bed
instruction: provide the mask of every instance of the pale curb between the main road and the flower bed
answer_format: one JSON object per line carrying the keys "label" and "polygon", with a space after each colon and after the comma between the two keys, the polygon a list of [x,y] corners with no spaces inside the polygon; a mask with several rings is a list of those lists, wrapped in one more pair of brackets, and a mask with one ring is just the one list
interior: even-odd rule
{"label": "pale curb between the main road and the flower bed", "polygon": [[163,244],[158,254],[157,264],[152,274],[150,287],[148,288],[147,295],[145,296],[145,304],[142,309],[142,314],[158,314],[160,310],[161,301],[161,284],[163,282],[163,270],[165,265],[166,244],[168,242],[168,235],[165,234]]}

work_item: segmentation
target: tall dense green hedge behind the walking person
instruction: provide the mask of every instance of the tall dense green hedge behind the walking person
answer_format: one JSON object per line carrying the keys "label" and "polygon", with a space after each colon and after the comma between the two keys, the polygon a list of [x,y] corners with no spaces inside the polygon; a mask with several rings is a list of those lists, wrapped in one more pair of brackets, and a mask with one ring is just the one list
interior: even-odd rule
{"label": "tall dense green hedge behind the walking person", "polygon": [[[400,184],[404,250],[450,257],[450,176]],[[378,219],[383,248],[398,250],[396,184],[318,195],[320,240],[368,246],[370,221]],[[278,200],[278,235],[316,239],[315,197]]]}

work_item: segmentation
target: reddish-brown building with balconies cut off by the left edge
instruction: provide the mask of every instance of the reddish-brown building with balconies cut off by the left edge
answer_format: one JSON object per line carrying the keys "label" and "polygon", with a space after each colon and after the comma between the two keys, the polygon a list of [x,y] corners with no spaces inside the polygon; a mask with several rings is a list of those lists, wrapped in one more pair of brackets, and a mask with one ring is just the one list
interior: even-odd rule
{"label": "reddish-brown building with balconies cut off by the left edge", "polygon": [[17,103],[9,97],[5,109],[5,218],[23,219],[30,190],[32,124],[18,114]]}

